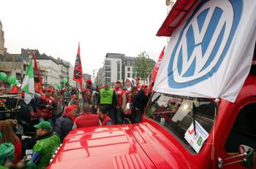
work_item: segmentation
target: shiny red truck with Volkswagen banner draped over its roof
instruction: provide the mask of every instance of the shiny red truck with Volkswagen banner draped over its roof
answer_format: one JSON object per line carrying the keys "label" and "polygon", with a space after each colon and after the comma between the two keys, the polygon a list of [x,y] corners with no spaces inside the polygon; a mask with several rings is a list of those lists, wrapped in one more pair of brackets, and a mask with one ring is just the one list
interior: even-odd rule
{"label": "shiny red truck with Volkswagen banner draped over its roof", "polygon": [[[157,35],[170,36],[195,5],[176,1]],[[256,168],[255,120],[252,61],[236,101],[154,92],[137,124],[72,130],[48,168]]]}

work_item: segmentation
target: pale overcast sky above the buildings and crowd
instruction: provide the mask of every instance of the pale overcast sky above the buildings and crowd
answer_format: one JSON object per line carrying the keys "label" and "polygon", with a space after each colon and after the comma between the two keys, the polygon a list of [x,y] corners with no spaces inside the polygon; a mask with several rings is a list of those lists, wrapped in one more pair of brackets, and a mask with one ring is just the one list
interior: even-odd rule
{"label": "pale overcast sky above the buildings and crowd", "polygon": [[21,48],[74,65],[80,42],[83,73],[102,67],[107,52],[157,60],[167,43],[156,36],[167,16],[165,0],[4,0],[0,20],[7,52]]}

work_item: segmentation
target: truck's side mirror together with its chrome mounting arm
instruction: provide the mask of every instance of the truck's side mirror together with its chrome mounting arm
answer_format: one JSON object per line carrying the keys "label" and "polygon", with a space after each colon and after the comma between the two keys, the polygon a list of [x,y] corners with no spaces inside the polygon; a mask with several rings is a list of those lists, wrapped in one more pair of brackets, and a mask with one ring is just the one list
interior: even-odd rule
{"label": "truck's side mirror together with its chrome mounting arm", "polygon": [[[232,161],[236,159],[235,161]],[[227,162],[225,162],[227,161]],[[225,159],[218,158],[218,168],[222,168],[225,165],[233,165],[235,163],[241,162],[246,168],[253,168],[255,164],[255,152],[249,146],[240,145],[238,148],[238,155],[233,157],[228,157]]]}

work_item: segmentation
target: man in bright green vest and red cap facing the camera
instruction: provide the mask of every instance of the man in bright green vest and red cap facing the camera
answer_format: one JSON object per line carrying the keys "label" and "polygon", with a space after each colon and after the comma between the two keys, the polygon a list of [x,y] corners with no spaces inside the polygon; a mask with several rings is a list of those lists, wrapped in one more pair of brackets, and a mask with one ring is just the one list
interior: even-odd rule
{"label": "man in bright green vest and red cap facing the camera", "polygon": [[110,118],[114,121],[114,108],[120,107],[117,101],[116,92],[110,87],[108,82],[105,82],[102,90],[99,90],[98,105],[105,106]]}

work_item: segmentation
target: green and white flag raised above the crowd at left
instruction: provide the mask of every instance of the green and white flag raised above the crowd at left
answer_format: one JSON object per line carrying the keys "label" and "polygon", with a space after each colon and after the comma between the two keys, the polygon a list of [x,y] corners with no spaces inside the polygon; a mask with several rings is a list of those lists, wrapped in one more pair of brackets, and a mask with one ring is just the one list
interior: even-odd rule
{"label": "green and white flag raised above the crowd at left", "polygon": [[29,63],[29,68],[26,71],[26,76],[23,79],[21,90],[25,92],[24,101],[28,104],[31,99],[34,98],[34,68],[31,61]]}

